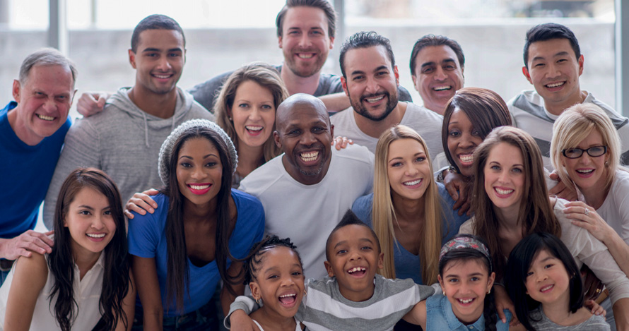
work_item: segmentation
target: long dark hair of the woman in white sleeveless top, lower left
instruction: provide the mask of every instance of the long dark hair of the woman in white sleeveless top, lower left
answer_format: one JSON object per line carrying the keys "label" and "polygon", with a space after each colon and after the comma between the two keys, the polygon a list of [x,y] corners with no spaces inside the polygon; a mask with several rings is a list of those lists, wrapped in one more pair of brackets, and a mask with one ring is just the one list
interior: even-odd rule
{"label": "long dark hair of the woman in white sleeveless top, lower left", "polygon": [[[105,246],[102,289],[98,308],[105,322],[105,330],[113,330],[119,320],[127,326],[129,318],[122,309],[122,300],[131,287],[129,276],[130,260],[127,251],[127,227],[124,224],[122,201],[114,181],[105,172],[95,168],[78,168],[72,171],[59,190],[57,205],[54,207],[54,246],[48,255],[48,268],[54,276],[54,284],[49,299],[54,301],[51,312],[59,323],[61,330],[71,330],[78,312],[78,303],[74,293],[74,255],[72,252],[72,236],[68,227],[64,226],[69,207],[76,195],[83,188],[91,188],[107,198],[116,230],[110,243]],[[95,284],[98,286],[98,284]],[[52,306],[53,300],[49,300]],[[53,325],[54,326],[54,325]]]}

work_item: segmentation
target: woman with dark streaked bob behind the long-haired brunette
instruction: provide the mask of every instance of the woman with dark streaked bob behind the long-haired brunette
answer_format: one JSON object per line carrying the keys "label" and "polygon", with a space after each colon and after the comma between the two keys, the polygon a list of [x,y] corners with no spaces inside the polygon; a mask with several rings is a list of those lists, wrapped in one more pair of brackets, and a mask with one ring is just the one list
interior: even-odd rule
{"label": "woman with dark streaked bob behind the long-haired brunette", "polygon": [[511,117],[505,100],[492,90],[462,88],[446,105],[441,130],[444,154],[437,155],[435,164],[441,166],[442,159],[447,159],[449,168],[437,180],[444,179],[447,191],[457,200],[454,208],[462,207],[459,213],[469,208],[474,150],[498,126],[511,126]]}

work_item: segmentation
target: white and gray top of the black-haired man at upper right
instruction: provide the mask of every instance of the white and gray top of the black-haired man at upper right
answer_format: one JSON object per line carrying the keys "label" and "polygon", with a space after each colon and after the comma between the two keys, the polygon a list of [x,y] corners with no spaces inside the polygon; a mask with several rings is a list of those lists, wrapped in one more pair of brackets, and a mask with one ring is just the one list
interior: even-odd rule
{"label": "white and gray top of the black-haired man at upper right", "polygon": [[[583,102],[596,104],[609,116],[613,125],[616,126],[618,136],[621,137],[621,164],[629,164],[629,119],[618,114],[609,105],[596,100],[592,93],[587,92],[587,97]],[[541,151],[544,167],[552,171],[551,139],[553,138],[553,124],[559,116],[548,112],[544,107],[541,95],[532,90],[516,95],[507,102],[507,107],[509,107],[513,125],[533,136]]]}

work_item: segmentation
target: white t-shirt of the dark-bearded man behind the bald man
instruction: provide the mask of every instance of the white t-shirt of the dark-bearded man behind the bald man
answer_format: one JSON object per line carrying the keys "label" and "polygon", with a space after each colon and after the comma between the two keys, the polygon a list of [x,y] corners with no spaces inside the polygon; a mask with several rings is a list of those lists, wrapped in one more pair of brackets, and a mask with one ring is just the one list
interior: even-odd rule
{"label": "white t-shirt of the dark-bearded man behind the bald man", "polygon": [[[350,138],[354,143],[363,145],[369,148],[372,153],[375,153],[378,138],[368,136],[363,131],[360,131],[354,116],[361,115],[355,114],[351,107],[331,116],[330,121],[334,125],[334,136]],[[400,124],[417,131],[421,138],[425,140],[431,160],[434,160],[437,154],[443,152],[441,143],[442,123],[443,116],[411,102],[406,102],[406,112],[404,112],[404,116],[400,121]]]}

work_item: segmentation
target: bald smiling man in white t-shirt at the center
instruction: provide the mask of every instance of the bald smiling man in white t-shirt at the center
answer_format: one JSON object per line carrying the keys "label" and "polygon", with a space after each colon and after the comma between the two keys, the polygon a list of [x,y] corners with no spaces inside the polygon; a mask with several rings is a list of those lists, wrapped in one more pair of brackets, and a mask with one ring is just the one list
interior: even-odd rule
{"label": "bald smiling man in white t-shirt at the center", "polygon": [[239,189],[260,199],[266,233],[299,247],[305,275],[323,277],[327,236],[354,200],[372,190],[374,156],[360,146],[331,148],[334,127],[312,95],[284,100],[276,129],[284,153],[252,171]]}

